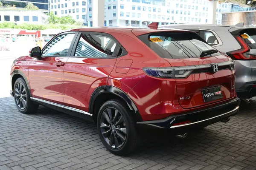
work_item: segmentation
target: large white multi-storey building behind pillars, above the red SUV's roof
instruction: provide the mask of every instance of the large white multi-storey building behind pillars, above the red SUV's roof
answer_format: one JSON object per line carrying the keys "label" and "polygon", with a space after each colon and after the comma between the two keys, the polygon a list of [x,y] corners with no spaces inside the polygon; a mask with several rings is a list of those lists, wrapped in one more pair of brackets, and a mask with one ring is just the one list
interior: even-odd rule
{"label": "large white multi-storey building behind pillars, above the red SUV's roof", "polygon": [[[92,26],[93,0],[88,0],[87,20]],[[212,24],[213,1],[209,0],[105,0],[105,26],[143,26],[151,22],[163,24]],[[217,5],[216,21],[230,4]]]}

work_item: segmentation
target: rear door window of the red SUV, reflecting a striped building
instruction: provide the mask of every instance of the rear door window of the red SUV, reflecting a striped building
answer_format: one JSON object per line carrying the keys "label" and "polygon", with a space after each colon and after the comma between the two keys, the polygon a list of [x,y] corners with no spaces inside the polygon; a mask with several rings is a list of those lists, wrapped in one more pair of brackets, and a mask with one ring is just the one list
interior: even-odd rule
{"label": "rear door window of the red SUV, reflecting a striped building", "polygon": [[105,35],[81,34],[75,56],[106,58],[113,57],[116,42]]}

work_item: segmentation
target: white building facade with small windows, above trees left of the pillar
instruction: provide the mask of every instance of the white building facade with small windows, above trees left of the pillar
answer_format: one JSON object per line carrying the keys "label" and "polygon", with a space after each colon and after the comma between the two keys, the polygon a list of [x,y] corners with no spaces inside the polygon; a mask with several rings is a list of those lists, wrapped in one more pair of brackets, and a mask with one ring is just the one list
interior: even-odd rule
{"label": "white building facade with small windows, above trees left of the pillar", "polygon": [[87,0],[49,0],[50,11],[59,17],[70,15],[87,25]]}

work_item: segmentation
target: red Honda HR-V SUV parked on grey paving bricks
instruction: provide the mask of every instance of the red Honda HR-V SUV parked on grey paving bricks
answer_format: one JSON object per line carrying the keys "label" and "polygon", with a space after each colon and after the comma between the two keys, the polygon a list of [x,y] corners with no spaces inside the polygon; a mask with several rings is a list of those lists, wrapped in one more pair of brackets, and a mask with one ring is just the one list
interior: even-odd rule
{"label": "red Honda HR-V SUV parked on grey paving bricks", "polygon": [[233,61],[192,31],[149,27],[72,29],[32,48],[12,65],[17,109],[94,121],[119,155],[138,145],[140,125],[186,132],[235,115]]}

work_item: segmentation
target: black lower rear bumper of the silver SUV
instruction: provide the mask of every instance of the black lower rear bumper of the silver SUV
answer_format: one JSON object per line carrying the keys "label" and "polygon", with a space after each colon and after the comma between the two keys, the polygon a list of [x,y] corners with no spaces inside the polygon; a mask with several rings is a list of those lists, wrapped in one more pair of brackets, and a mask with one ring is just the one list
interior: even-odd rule
{"label": "black lower rear bumper of the silver SUV", "polygon": [[236,89],[236,93],[239,98],[252,98],[256,96],[256,81],[244,83],[241,88]]}

